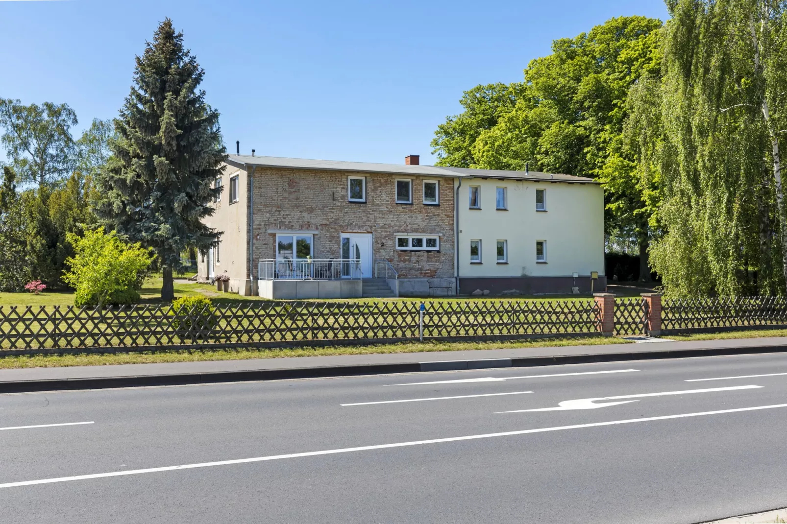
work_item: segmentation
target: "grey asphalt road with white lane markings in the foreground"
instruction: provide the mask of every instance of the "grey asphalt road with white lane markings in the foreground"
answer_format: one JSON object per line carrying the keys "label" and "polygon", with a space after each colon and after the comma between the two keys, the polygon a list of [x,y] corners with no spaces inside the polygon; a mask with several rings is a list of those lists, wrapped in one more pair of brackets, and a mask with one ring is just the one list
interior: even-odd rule
{"label": "grey asphalt road with white lane markings in the foreground", "polygon": [[783,354],[6,394],[0,522],[701,522],[785,435]]}

